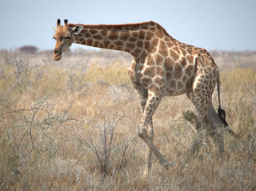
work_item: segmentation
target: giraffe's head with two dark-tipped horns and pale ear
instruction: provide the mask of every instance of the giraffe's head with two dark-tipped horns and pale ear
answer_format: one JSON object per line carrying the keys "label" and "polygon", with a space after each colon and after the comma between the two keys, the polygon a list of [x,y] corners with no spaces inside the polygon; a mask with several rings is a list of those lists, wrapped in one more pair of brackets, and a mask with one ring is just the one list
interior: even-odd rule
{"label": "giraffe's head with two dark-tipped horns and pale ear", "polygon": [[53,50],[53,60],[61,60],[62,52],[69,49],[72,43],[75,41],[75,35],[82,31],[83,26],[77,25],[74,28],[69,28],[67,25],[67,19],[64,20],[65,25],[61,26],[61,20],[57,20],[57,27],[53,27],[55,34],[53,39],[56,39],[55,49]]}

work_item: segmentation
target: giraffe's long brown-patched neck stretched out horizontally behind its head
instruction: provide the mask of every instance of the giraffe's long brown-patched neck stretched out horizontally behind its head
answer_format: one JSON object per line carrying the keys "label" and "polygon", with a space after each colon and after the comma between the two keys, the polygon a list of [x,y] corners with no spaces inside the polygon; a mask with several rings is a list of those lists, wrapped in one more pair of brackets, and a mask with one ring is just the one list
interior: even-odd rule
{"label": "giraffe's long brown-patched neck stretched out horizontally behind its head", "polygon": [[[69,28],[75,24],[69,24]],[[153,22],[127,25],[83,25],[83,30],[75,36],[75,43],[91,47],[129,52],[139,57],[150,48],[151,34],[156,28]]]}

